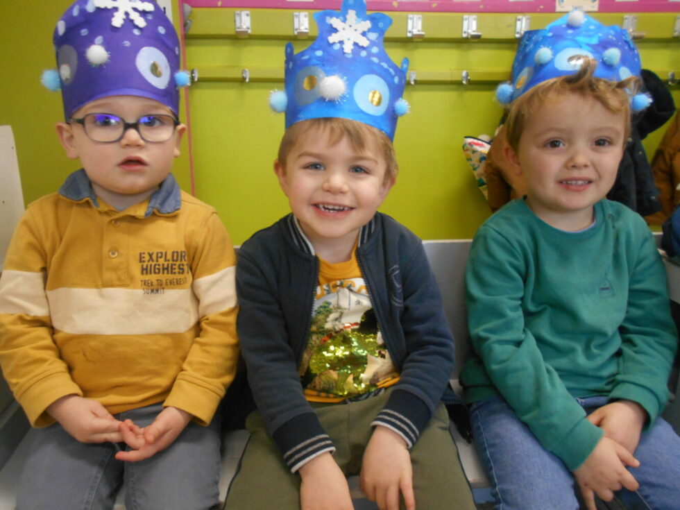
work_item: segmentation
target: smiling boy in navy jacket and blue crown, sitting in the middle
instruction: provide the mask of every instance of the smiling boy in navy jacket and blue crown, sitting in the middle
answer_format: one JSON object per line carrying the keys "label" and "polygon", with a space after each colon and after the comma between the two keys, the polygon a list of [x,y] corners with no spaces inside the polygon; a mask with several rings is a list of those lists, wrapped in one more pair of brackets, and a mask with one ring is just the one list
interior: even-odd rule
{"label": "smiling boy in navy jacket and blue crown, sitting in the middle", "polygon": [[[352,509],[346,476],[382,510],[474,509],[441,397],[453,341],[420,239],[376,212],[407,62],[364,0],[315,15],[286,48],[274,164],[292,213],[239,251],[239,338],[257,411],[228,509]],[[261,490],[266,488],[266,490]]]}

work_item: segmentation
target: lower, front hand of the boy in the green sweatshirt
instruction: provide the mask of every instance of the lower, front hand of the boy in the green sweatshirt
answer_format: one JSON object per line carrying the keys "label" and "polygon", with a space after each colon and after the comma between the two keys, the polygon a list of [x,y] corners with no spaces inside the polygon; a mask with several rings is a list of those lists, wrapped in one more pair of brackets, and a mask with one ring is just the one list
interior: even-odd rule
{"label": "lower, front hand of the boy in the green sweatshirt", "polygon": [[613,439],[602,437],[586,461],[573,472],[588,510],[596,510],[595,494],[604,501],[611,501],[613,492],[622,487],[637,490],[638,482],[626,466],[637,468],[640,462]]}

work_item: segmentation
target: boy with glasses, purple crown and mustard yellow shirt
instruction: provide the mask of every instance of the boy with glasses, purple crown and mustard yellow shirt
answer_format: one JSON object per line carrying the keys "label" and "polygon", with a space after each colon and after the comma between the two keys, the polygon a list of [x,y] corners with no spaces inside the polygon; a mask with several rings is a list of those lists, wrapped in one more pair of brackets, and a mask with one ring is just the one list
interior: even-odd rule
{"label": "boy with glasses, purple crown and mustard yellow shirt", "polygon": [[83,169],[28,206],[0,280],[0,363],[35,429],[17,509],[209,509],[237,357],[235,254],[171,175],[179,42],[149,1],[78,0],[56,126]]}

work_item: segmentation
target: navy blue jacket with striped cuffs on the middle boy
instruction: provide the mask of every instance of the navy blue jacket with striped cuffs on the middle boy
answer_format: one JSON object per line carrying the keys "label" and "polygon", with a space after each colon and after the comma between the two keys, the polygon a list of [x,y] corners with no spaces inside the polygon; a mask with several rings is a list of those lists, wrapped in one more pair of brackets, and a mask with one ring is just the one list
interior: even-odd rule
{"label": "navy blue jacket with striped cuffs on the middle boy", "polygon": [[[373,423],[398,432],[410,448],[450,379],[453,338],[416,235],[377,213],[359,234],[357,261],[400,372]],[[334,446],[305,399],[297,371],[309,337],[318,259],[292,214],[241,246],[236,279],[250,389],[269,434],[295,471]]]}

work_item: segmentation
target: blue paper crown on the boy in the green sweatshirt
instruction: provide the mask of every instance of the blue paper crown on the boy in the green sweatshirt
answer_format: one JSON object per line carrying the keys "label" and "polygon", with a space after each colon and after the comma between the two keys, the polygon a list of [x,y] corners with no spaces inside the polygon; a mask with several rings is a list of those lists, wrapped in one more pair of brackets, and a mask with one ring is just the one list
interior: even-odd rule
{"label": "blue paper crown on the boy in the green sweatshirt", "polygon": [[[498,101],[514,101],[534,85],[550,78],[574,74],[583,57],[597,60],[593,76],[619,81],[640,75],[640,55],[628,32],[604,26],[580,10],[557,19],[541,30],[522,35],[512,64],[512,82],[496,90]],[[641,96],[641,97],[640,97]],[[643,101],[638,94],[634,103]]]}

